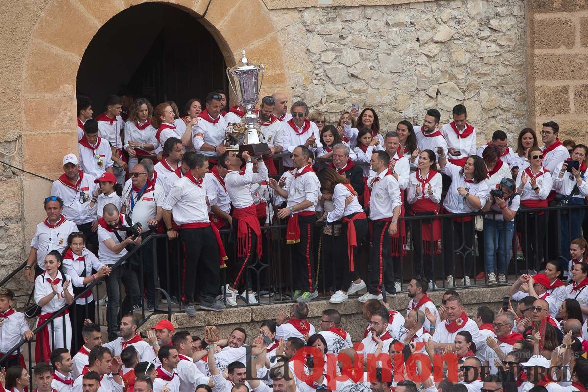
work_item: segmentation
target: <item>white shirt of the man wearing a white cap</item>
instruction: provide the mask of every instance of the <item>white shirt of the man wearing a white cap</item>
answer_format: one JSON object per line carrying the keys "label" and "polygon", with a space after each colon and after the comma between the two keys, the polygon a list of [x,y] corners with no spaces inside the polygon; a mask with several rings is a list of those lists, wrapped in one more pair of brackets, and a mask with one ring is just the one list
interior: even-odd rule
{"label": "white shirt of the man wearing a white cap", "polygon": [[[61,197],[64,200],[63,214],[67,219],[76,225],[83,225],[94,220],[94,214],[90,210],[90,200],[98,184],[94,183],[94,176],[83,172],[79,173],[78,183],[74,185],[75,189],[56,180],[51,187],[51,196]],[[81,200],[83,203],[80,202]]]}

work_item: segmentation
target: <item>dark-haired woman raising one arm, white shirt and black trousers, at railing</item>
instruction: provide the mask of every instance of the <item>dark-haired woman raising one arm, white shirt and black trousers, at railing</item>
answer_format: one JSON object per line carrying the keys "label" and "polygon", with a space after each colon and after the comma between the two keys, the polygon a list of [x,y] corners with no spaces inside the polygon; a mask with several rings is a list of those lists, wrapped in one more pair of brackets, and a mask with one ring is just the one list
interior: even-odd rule
{"label": "dark-haired woman raising one arm, white shirt and black trousers, at railing", "polygon": [[[463,167],[447,161],[445,151],[440,148],[439,166],[441,172],[451,177],[443,207],[447,213],[459,214],[479,211],[487,202],[490,190],[484,181],[486,165],[477,155],[467,158]],[[456,216],[443,219],[444,248],[443,261],[446,269],[447,286],[453,286],[455,255],[462,254],[464,265],[463,285],[470,286],[474,260],[474,219],[473,216]],[[449,244],[449,246],[447,246]]]}

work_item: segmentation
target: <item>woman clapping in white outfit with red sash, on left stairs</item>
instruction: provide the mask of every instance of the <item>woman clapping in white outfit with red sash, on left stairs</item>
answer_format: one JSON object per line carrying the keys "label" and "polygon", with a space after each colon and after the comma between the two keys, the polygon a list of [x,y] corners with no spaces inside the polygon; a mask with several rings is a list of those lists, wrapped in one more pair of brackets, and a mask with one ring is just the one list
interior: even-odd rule
{"label": "woman clapping in white outfit with red sash, on left stairs", "polygon": [[[37,327],[73,301],[74,290],[69,276],[61,272],[61,253],[52,250],[45,256],[45,272],[35,279],[35,303],[41,307]],[[66,310],[37,333],[35,360],[48,362],[51,351],[69,349],[71,339],[72,326]]]}

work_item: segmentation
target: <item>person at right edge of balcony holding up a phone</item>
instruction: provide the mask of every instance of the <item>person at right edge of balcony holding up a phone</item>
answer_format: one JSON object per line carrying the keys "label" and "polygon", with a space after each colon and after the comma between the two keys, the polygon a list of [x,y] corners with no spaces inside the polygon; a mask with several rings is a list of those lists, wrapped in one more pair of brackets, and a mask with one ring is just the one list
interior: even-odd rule
{"label": "person at right edge of balcony holding up a phone", "polygon": [[[584,205],[584,197],[588,196],[588,184],[584,181],[586,155],[588,155],[588,147],[583,144],[576,145],[572,152],[572,158],[564,160],[556,166],[553,174],[553,189],[557,192],[555,202],[558,205]],[[567,271],[568,260],[566,256],[569,253],[569,244],[572,239],[582,236],[584,209],[563,210],[560,219],[559,263],[562,269]]]}

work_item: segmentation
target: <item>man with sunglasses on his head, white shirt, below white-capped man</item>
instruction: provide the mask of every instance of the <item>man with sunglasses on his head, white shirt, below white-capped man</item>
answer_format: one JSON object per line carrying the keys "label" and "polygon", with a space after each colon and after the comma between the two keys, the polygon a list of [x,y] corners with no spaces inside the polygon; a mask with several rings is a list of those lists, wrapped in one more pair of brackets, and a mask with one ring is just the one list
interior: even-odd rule
{"label": "man with sunglasses on his head, white shirt, below white-capped man", "polygon": [[62,253],[68,244],[69,233],[78,232],[78,226],[62,215],[64,200],[61,197],[49,196],[43,202],[47,217],[36,227],[35,236],[31,241],[31,252],[26,260],[25,279],[33,282],[35,273],[45,270],[45,256],[52,250]]}

